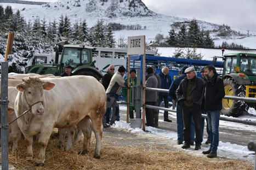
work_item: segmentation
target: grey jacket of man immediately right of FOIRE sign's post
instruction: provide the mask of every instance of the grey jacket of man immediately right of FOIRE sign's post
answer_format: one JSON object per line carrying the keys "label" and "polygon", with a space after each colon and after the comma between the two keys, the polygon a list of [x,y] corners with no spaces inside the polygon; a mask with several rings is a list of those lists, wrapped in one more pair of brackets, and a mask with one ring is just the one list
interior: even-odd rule
{"label": "grey jacket of man immediately right of FOIRE sign's post", "polygon": [[[153,73],[151,73],[147,77],[148,78],[146,80],[146,87],[157,88],[158,81],[156,76]],[[157,92],[146,90],[146,102],[156,102],[156,101],[157,101]]]}

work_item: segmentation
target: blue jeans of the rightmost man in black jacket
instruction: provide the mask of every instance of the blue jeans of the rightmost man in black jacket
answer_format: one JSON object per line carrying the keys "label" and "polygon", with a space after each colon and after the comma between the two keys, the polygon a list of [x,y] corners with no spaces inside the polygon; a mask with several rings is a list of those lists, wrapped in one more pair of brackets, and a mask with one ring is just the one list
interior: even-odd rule
{"label": "blue jeans of the rightmost man in black jacket", "polygon": [[217,152],[219,145],[219,120],[220,120],[220,110],[206,111],[209,134],[211,135],[211,146],[210,149],[213,153]]}

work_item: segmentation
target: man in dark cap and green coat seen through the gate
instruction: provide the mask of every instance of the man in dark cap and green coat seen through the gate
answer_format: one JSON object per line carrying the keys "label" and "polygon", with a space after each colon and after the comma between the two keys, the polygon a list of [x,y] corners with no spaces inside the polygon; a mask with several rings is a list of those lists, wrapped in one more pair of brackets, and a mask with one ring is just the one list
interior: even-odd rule
{"label": "man in dark cap and green coat seen through the gate", "polygon": [[[124,81],[126,81],[126,83],[127,83],[127,80],[128,80],[128,78],[124,79]],[[135,69],[130,70],[130,79],[129,80],[130,80],[130,83],[132,83],[134,86],[136,85],[137,78],[136,78],[136,70]],[[127,89],[123,89],[122,93],[123,93],[123,96],[126,98],[126,101],[127,101]],[[133,95],[133,90],[132,89],[130,89],[130,94],[129,95],[130,95],[129,103],[132,103],[132,98],[133,98],[133,96],[132,96]],[[134,106],[132,106],[132,105],[129,106],[130,119],[134,119],[133,111],[136,111],[135,108],[136,108],[135,105]]]}

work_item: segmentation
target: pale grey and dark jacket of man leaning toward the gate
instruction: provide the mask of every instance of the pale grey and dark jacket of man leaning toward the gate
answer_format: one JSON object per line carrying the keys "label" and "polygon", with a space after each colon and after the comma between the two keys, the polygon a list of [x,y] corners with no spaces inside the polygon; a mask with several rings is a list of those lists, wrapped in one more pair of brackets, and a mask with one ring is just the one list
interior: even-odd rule
{"label": "pale grey and dark jacket of man leaning toward the gate", "polygon": [[110,80],[109,87],[107,87],[106,94],[115,95],[118,97],[122,90],[122,87],[127,87],[127,83],[124,81],[120,72],[116,72]]}

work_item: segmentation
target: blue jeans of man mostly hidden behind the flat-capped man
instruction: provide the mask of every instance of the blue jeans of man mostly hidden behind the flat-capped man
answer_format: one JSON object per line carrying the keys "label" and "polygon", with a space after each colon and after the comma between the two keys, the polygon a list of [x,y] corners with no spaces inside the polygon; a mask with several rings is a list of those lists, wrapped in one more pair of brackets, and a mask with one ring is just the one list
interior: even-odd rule
{"label": "blue jeans of man mostly hidden behind the flat-capped man", "polygon": [[[183,129],[184,129],[184,122],[183,122],[183,113],[182,113],[182,109],[180,107],[179,104],[177,104],[177,133],[178,133],[178,140],[179,141],[183,141]],[[191,120],[191,144],[194,143],[195,140],[195,123],[194,120],[192,118]]]}

